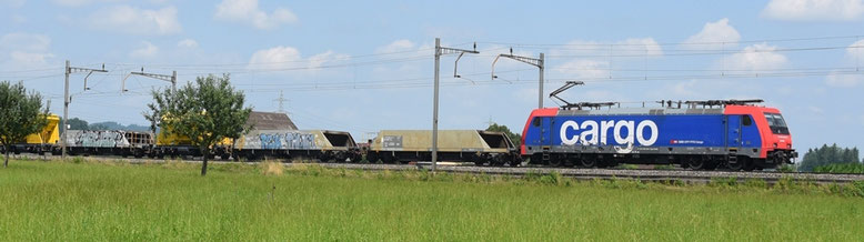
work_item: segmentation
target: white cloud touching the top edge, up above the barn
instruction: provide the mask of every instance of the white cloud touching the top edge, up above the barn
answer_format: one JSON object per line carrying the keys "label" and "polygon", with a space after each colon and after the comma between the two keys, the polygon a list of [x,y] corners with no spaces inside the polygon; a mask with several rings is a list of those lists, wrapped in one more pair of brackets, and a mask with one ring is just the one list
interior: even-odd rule
{"label": "white cloud touching the top edge, up above the barn", "polygon": [[298,21],[297,16],[285,8],[277,8],[272,13],[264,12],[259,9],[258,0],[223,0],[217,4],[215,18],[245,22],[258,29],[274,29]]}

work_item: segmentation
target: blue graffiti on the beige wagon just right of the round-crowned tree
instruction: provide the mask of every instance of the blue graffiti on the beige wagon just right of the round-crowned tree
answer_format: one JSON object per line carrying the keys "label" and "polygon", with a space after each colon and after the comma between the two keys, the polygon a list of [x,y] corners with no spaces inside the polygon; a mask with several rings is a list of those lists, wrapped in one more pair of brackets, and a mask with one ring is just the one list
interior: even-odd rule
{"label": "blue graffiti on the beige wagon just right of the round-crowned tree", "polygon": [[315,145],[315,134],[282,131],[282,132],[261,132],[258,135],[247,135],[247,148],[260,149],[313,149]]}

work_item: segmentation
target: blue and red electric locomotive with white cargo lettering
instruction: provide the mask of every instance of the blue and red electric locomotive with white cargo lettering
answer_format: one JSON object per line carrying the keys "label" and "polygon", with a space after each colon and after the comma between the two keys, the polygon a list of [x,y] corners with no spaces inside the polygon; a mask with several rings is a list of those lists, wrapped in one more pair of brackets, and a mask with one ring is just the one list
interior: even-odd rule
{"label": "blue and red electric locomotive with white cargo lettering", "polygon": [[[661,108],[575,103],[536,109],[520,153],[552,167],[680,164],[695,170],[771,169],[797,152],[780,110],[762,100],[663,101]],[[683,107],[682,107],[683,104]]]}

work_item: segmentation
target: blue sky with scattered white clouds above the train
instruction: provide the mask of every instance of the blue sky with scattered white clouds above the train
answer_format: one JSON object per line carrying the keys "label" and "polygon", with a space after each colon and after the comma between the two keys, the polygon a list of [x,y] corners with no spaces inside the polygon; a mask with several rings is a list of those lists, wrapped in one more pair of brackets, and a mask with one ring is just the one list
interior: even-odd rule
{"label": "blue sky with scattered white clouds above the train", "polygon": [[[536,69],[499,53],[546,54],[545,91],[573,101],[758,98],[784,113],[798,149],[864,147],[864,1],[123,1],[0,0],[0,80],[23,80],[62,112],[64,60],[108,74],[71,78],[70,117],[145,123],[158,80],[231,73],[249,104],[282,91],[301,129],[430,129],[432,48],[472,48],[452,78],[442,59],[442,129],[522,130]],[[545,99],[546,107],[556,105]]]}

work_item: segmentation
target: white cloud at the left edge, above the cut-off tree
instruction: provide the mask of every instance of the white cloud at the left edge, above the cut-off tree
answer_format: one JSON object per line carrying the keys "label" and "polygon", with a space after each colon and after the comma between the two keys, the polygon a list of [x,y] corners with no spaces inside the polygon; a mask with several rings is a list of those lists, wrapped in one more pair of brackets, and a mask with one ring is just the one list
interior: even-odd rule
{"label": "white cloud at the left edge, above the cut-off tree", "polygon": [[54,57],[49,51],[50,46],[51,39],[47,36],[8,33],[0,37],[0,56],[8,57],[9,62],[18,67],[42,65]]}

